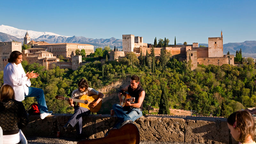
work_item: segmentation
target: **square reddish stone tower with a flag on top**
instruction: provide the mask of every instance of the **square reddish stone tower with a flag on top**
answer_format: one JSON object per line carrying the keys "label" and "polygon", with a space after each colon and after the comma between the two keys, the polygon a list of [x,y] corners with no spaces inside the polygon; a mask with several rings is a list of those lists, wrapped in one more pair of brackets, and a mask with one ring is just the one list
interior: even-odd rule
{"label": "square reddish stone tower with a flag on top", "polygon": [[208,56],[223,57],[223,37],[208,37]]}

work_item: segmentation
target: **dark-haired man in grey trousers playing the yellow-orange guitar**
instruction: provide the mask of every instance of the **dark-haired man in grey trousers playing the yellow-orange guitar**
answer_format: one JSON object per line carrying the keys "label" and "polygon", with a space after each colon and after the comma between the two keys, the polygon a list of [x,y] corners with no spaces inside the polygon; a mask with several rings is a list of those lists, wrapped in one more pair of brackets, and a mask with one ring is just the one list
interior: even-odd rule
{"label": "dark-haired man in grey trousers playing the yellow-orange guitar", "polygon": [[75,112],[68,120],[67,124],[63,126],[63,128],[65,131],[67,131],[70,125],[72,127],[76,126],[77,140],[79,140],[82,137],[82,116],[89,115],[91,111],[88,108],[80,107],[78,104],[76,105],[76,102],[74,102],[73,99],[79,99],[79,97],[82,95],[99,95],[98,99],[92,102],[92,108],[94,108],[102,100],[104,94],[88,87],[88,83],[85,79],[81,79],[77,85],[78,89],[74,90],[71,98],[68,99],[69,105],[75,108]]}

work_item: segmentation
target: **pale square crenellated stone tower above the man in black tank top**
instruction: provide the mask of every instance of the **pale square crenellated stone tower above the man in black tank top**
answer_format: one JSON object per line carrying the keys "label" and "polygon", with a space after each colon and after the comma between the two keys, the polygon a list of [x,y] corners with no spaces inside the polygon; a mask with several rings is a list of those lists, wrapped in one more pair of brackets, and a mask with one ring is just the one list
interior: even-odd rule
{"label": "pale square crenellated stone tower above the man in black tank top", "polygon": [[133,52],[134,35],[123,35],[123,51]]}

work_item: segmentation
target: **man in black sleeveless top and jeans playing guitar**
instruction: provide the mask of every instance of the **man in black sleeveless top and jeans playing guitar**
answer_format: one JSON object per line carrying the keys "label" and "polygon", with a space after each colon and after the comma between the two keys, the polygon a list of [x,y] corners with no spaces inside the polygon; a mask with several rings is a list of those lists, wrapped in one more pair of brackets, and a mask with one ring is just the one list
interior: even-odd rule
{"label": "man in black sleeveless top and jeans playing guitar", "polygon": [[142,116],[143,100],[145,98],[146,93],[144,89],[141,87],[139,76],[132,76],[130,85],[127,85],[118,92],[118,98],[120,100],[120,103],[122,103],[123,101],[122,94],[125,91],[128,91],[131,97],[135,98],[135,101],[134,103],[131,103],[126,99],[124,103],[127,106],[124,107],[120,106],[119,104],[113,105],[115,114],[119,119],[119,122],[115,125],[116,128],[120,128],[121,126],[127,123],[133,123],[136,119]]}

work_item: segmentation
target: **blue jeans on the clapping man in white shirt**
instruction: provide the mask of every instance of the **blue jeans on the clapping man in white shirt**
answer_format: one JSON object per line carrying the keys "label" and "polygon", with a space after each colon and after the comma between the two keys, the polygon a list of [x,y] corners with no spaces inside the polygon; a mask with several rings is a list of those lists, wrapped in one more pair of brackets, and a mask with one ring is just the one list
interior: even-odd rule
{"label": "blue jeans on the clapping man in white shirt", "polygon": [[25,94],[25,97],[36,97],[40,113],[42,114],[48,112],[48,108],[44,99],[44,91],[42,89],[28,87],[28,95]]}

